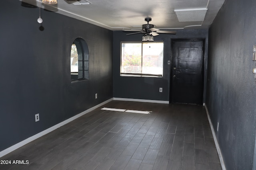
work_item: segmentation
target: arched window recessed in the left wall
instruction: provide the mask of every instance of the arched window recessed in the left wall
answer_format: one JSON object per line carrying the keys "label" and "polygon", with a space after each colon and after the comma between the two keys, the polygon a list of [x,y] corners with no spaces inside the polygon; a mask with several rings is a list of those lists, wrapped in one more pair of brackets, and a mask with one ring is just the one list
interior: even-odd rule
{"label": "arched window recessed in the left wall", "polygon": [[77,38],[70,52],[71,81],[89,79],[89,51],[84,39]]}

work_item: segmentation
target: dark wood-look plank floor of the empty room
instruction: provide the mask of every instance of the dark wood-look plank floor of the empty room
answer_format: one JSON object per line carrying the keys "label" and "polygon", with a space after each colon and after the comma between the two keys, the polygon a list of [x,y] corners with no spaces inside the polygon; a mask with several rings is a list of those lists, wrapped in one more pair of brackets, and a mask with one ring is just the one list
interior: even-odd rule
{"label": "dark wood-look plank floor of the empty room", "polygon": [[29,164],[0,169],[221,170],[203,106],[112,101],[102,107],[0,158]]}

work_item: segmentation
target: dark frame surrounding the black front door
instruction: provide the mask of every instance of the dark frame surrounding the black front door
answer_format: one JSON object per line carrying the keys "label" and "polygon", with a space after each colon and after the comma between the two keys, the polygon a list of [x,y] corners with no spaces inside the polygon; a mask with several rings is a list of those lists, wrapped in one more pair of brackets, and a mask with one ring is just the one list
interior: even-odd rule
{"label": "dark frame surrounding the black front door", "polygon": [[169,103],[170,104],[173,104],[173,95],[172,95],[172,74],[173,74],[173,65],[174,65],[174,51],[173,51],[173,44],[174,44],[174,41],[202,41],[203,43],[203,56],[202,56],[202,105],[204,106],[204,103],[205,103],[205,99],[204,99],[204,96],[205,96],[205,80],[206,80],[206,59],[205,59],[205,46],[206,46],[206,39],[205,38],[177,38],[177,39],[171,39],[171,65],[170,65],[170,87],[169,87]]}

